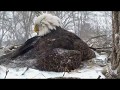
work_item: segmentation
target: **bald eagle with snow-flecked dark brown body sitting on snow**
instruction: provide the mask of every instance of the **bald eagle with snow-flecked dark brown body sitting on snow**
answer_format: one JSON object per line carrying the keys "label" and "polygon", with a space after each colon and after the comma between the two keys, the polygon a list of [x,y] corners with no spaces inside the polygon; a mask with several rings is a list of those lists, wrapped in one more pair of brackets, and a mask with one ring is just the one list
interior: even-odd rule
{"label": "bald eagle with snow-flecked dark brown body sitting on snow", "polygon": [[34,66],[39,70],[63,72],[77,69],[81,61],[95,57],[82,39],[62,28],[57,16],[46,13],[38,16],[34,31],[37,36],[10,53],[11,60],[35,59]]}

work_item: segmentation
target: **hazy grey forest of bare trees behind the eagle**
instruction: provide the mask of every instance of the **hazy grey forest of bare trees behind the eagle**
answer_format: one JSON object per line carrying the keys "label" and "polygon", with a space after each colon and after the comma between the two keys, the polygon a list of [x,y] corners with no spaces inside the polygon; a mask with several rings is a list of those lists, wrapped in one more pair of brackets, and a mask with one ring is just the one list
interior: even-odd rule
{"label": "hazy grey forest of bare trees behind the eagle", "polygon": [[[1,11],[0,47],[19,45],[36,35],[34,19],[45,11]],[[46,11],[47,12],[47,11]],[[112,14],[109,11],[49,11],[62,20],[62,27],[75,33],[88,44],[110,47]]]}

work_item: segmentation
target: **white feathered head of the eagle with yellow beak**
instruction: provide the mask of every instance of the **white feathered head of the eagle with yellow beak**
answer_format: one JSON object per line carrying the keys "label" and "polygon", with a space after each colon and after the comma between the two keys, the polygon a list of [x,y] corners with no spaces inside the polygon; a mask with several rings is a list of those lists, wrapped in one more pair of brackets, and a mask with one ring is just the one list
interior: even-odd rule
{"label": "white feathered head of the eagle with yellow beak", "polygon": [[51,30],[56,30],[56,27],[61,27],[60,18],[52,14],[44,13],[36,18],[34,31],[39,36],[44,36]]}

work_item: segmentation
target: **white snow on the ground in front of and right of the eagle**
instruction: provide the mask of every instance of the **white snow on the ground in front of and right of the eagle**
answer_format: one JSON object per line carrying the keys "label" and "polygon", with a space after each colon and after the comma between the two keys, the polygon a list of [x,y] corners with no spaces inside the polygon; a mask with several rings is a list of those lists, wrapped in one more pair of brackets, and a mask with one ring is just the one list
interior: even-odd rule
{"label": "white snow on the ground in front of and right of the eagle", "polygon": [[[106,55],[99,55],[94,60],[106,60]],[[72,72],[47,72],[39,71],[27,67],[24,68],[6,68],[0,65],[0,79],[47,79],[55,77],[74,77],[80,79],[97,79],[99,75],[100,79],[104,79],[105,76],[101,73],[103,67],[99,65],[87,66],[82,69],[77,69]],[[26,72],[25,72],[26,71]],[[25,73],[24,73],[25,72]],[[6,75],[7,73],[7,75]],[[24,73],[24,74],[23,74]]]}

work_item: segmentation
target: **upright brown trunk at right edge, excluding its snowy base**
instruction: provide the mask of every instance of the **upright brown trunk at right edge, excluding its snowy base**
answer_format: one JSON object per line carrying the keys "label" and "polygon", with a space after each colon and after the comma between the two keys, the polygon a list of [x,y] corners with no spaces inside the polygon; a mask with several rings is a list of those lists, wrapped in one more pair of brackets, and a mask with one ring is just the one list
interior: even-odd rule
{"label": "upright brown trunk at right edge, excluding its snowy base", "polygon": [[119,47],[119,11],[113,11],[112,12],[112,37],[113,37],[113,46],[112,46],[112,69],[115,70],[119,66],[119,55],[120,55],[120,47]]}

